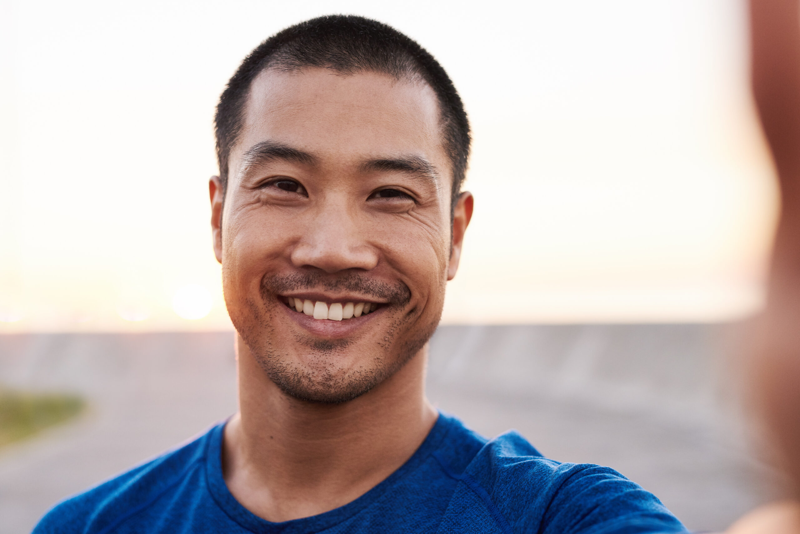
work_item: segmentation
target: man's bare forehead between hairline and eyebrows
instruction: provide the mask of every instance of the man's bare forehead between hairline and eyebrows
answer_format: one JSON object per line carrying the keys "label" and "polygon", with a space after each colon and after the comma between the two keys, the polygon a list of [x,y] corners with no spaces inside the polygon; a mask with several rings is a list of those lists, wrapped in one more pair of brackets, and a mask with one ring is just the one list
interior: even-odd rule
{"label": "man's bare forehead between hairline and eyebrows", "polygon": [[326,161],[403,153],[426,158],[442,173],[449,170],[438,102],[424,82],[372,72],[266,70],[250,88],[243,122],[232,167],[248,147],[276,141]]}

